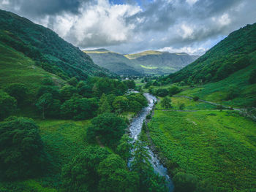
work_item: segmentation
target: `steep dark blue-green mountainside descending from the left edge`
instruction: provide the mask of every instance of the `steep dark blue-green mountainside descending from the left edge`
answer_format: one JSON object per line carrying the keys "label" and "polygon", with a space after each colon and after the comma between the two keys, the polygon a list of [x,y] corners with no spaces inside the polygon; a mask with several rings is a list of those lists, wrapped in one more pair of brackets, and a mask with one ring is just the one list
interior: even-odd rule
{"label": "steep dark blue-green mountainside descending from the left edge", "polygon": [[[74,76],[85,80],[89,75],[108,73],[106,69],[95,65],[89,55],[61,39],[49,28],[4,10],[0,10],[0,43],[1,48],[19,52],[19,55],[22,53],[21,57],[29,58],[34,66],[64,80]],[[0,55],[1,61],[4,56]]]}

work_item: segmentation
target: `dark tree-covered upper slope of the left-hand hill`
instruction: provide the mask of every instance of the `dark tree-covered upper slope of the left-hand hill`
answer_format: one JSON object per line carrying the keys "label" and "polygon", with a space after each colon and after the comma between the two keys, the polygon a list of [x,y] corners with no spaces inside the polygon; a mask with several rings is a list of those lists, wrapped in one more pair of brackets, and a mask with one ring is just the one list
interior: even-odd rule
{"label": "dark tree-covered upper slope of the left-hand hill", "polygon": [[[50,65],[54,64],[69,77],[75,75],[85,77],[90,74],[106,72],[105,69],[95,65],[89,55],[61,39],[58,34],[49,28],[32,23],[30,20],[21,18],[12,12],[0,9],[0,31],[7,34],[6,37],[1,36],[2,41],[11,47],[16,46],[12,42],[15,41],[20,45],[30,47],[31,50],[39,51],[41,55],[37,55],[37,59],[40,58],[41,61]],[[17,48],[16,46],[15,49]],[[27,50],[24,51],[24,53],[27,52]]]}

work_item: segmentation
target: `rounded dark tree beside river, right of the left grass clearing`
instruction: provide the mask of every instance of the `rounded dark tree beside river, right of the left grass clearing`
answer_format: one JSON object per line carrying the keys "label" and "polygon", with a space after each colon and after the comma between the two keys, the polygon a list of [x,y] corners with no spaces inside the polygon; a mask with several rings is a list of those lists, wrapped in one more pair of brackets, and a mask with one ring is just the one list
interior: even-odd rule
{"label": "rounded dark tree beside river, right of the left grass clearing", "polygon": [[[117,145],[124,134],[126,123],[113,113],[104,113],[91,120],[92,126],[87,130],[87,136],[99,137],[100,141],[108,146]],[[88,138],[92,140],[94,138]]]}

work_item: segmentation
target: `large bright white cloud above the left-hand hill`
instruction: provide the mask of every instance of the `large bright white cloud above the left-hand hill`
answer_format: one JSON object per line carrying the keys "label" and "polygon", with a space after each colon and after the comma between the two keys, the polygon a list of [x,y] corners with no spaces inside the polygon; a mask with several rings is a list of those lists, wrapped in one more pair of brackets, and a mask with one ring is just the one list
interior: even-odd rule
{"label": "large bright white cloud above the left-hand hill", "polygon": [[[79,15],[66,13],[55,16],[53,30],[80,47],[114,45],[132,38],[135,26],[127,24],[125,18],[140,11],[138,6],[99,0],[97,4],[82,4]],[[43,24],[51,25],[50,21]]]}

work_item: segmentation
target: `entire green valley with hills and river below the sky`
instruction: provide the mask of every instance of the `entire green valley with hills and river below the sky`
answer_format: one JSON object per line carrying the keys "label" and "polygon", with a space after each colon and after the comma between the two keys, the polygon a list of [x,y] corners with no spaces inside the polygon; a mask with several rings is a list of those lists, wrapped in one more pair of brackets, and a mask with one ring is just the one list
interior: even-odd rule
{"label": "entire green valley with hills and river below the sky", "polygon": [[201,56],[121,54],[80,49],[0,9],[0,192],[254,192],[255,183],[256,23]]}

